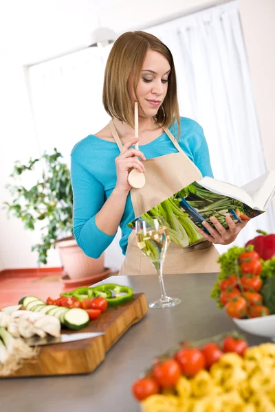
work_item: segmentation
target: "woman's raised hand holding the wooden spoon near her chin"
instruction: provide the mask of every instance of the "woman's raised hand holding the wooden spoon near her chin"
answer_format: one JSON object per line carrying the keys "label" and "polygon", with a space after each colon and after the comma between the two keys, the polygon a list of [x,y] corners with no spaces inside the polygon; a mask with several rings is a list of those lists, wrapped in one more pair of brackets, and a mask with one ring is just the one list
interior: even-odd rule
{"label": "woman's raised hand holding the wooden spoon near her chin", "polygon": [[140,150],[130,149],[138,139],[131,139],[124,144],[120,155],[115,159],[115,168],[117,181],[115,188],[122,192],[129,192],[131,185],[128,183],[128,175],[132,169],[137,169],[139,172],[145,172],[143,163],[138,159],[146,160],[144,154]]}

